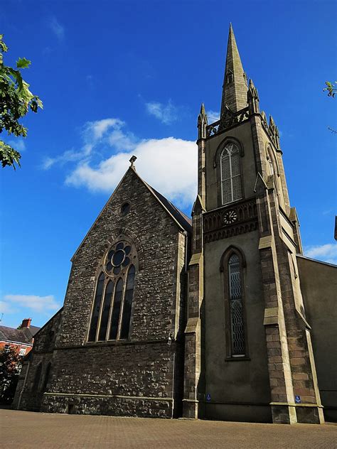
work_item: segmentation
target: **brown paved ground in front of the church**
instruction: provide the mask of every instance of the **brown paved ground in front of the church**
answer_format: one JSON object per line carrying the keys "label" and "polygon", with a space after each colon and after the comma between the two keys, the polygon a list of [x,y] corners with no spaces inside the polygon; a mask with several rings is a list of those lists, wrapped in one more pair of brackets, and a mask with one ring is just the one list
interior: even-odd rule
{"label": "brown paved ground in front of the church", "polygon": [[0,410],[7,448],[337,448],[337,426],[228,423]]}

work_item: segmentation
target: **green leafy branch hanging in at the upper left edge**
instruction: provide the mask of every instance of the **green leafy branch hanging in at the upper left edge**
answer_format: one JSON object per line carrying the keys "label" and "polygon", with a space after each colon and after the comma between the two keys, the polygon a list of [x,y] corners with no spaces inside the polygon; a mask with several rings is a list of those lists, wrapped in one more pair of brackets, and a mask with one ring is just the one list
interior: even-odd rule
{"label": "green leafy branch hanging in at the upper left edge", "polygon": [[[8,51],[3,40],[4,35],[0,34],[0,133],[6,130],[9,135],[26,137],[27,128],[19,123],[19,119],[24,117],[29,109],[38,112],[38,108],[43,108],[41,99],[29,90],[28,83],[23,80],[21,70],[31,65],[31,61],[26,58],[18,58],[16,68],[4,65],[3,53]],[[3,167],[20,166],[21,154],[0,140],[0,162]]]}

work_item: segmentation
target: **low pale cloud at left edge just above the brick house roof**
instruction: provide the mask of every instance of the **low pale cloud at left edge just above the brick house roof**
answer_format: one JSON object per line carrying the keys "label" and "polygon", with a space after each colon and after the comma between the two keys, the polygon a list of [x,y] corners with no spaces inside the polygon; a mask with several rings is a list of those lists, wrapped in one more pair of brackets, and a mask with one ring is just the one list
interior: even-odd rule
{"label": "low pale cloud at left edge just above the brick house roof", "polygon": [[5,295],[1,305],[7,313],[13,313],[16,306],[30,308],[36,312],[45,312],[58,310],[60,305],[55,301],[53,295],[35,296],[35,295]]}

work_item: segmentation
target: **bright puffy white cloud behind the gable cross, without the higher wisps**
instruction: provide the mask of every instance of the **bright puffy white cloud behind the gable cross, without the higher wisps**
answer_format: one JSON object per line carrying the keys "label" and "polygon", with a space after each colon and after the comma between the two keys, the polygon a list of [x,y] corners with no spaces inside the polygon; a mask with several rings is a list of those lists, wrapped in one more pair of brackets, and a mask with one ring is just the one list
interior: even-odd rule
{"label": "bright puffy white cloud behind the gable cross, without the higher wisps", "polygon": [[137,172],[170,200],[186,207],[196,198],[197,148],[191,141],[168,137],[136,144],[101,161],[97,167],[80,163],[66,179],[68,185],[85,185],[90,190],[111,192],[137,156]]}

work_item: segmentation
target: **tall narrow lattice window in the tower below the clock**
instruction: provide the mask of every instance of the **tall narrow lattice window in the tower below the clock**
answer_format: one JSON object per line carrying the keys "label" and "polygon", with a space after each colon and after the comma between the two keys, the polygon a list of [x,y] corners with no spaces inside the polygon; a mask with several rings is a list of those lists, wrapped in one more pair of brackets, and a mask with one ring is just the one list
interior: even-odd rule
{"label": "tall narrow lattice window in the tower below the clock", "polygon": [[242,279],[240,259],[232,254],[228,261],[230,334],[232,356],[245,355],[245,323],[242,303]]}

